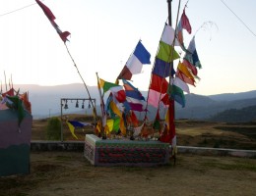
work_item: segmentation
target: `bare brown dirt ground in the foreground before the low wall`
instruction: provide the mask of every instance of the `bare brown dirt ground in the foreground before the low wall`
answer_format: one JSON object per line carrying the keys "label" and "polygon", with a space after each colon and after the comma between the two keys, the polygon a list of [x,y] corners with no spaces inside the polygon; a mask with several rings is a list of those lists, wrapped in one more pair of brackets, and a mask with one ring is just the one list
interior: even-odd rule
{"label": "bare brown dirt ground in the foreground before the low wall", "polygon": [[0,177],[0,195],[256,195],[256,159],[178,155],[175,167],[101,168],[81,152],[32,152],[31,168]]}

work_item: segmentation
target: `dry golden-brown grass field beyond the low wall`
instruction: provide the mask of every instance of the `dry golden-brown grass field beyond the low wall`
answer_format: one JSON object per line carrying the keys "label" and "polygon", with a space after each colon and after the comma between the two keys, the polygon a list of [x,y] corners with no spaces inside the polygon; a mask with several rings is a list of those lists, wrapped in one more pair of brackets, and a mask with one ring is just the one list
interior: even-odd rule
{"label": "dry golden-brown grass field beyond the low wall", "polygon": [[[92,117],[69,115],[69,119],[92,122]],[[34,120],[32,140],[46,140],[47,120]],[[78,140],[84,141],[85,134],[94,133],[93,127],[76,128]],[[157,133],[158,134],[158,133]],[[157,135],[155,134],[155,135]],[[210,123],[199,121],[176,122],[177,143],[182,146],[199,146],[231,149],[256,150],[256,123]],[[64,140],[76,140],[63,123]]]}

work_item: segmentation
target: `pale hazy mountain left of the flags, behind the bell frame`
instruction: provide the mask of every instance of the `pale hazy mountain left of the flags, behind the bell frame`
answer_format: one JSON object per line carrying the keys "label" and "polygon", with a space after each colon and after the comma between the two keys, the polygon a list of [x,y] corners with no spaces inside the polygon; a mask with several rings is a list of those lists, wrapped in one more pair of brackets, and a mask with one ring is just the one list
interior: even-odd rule
{"label": "pale hazy mountain left of the flags, behind the bell frame", "polygon": [[[61,114],[61,98],[89,98],[86,87],[82,83],[40,86],[34,84],[14,85],[15,89],[21,92],[29,91],[30,101],[32,103],[33,119],[41,119],[49,116],[59,116]],[[99,105],[99,95],[96,86],[88,86],[91,98],[96,99],[96,105]],[[63,110],[63,114],[67,113],[92,113],[89,109],[89,101],[85,102],[85,109],[76,108],[76,101],[68,102],[69,110]],[[99,108],[99,107],[98,107]],[[99,113],[100,110],[98,110]]]}

